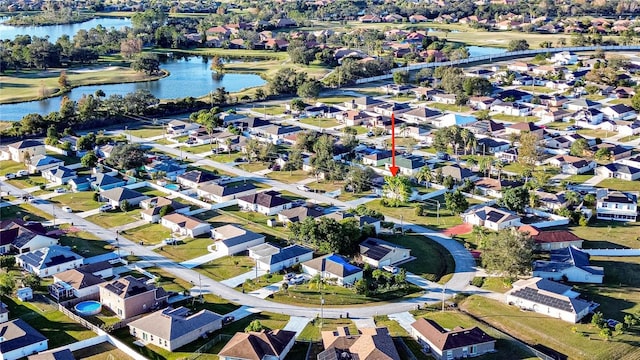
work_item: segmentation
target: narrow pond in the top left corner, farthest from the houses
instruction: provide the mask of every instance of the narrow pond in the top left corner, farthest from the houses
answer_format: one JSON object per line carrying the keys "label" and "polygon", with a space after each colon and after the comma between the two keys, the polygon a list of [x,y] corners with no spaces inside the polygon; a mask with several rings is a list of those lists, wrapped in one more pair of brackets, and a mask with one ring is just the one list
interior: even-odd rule
{"label": "narrow pond in the top left corner, farthest from the houses", "polygon": [[[8,17],[0,17],[0,23],[7,21]],[[98,25],[102,25],[106,29],[121,29],[124,26],[131,26],[129,18],[96,18],[77,24],[65,25],[44,25],[44,26],[11,26],[0,24],[0,37],[2,39],[13,40],[17,35],[31,35],[38,37],[49,36],[49,41],[55,43],[62,35],[69,35],[73,39],[79,30],[89,30]]]}

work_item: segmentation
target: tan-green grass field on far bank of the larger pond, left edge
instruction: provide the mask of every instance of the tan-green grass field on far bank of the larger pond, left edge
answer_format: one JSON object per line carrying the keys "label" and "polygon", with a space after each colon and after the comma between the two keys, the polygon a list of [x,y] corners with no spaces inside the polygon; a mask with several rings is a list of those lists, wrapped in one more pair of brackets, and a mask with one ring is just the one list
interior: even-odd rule
{"label": "tan-green grass field on far bank of the larger pond, left edge", "polygon": [[[70,86],[77,87],[95,84],[117,84],[137,81],[150,81],[162,76],[147,76],[128,67],[96,67],[99,71],[76,72],[67,70]],[[9,72],[11,75],[0,76],[2,88],[7,91],[0,93],[0,104],[36,100],[60,95],[58,77],[60,69],[45,71]]]}

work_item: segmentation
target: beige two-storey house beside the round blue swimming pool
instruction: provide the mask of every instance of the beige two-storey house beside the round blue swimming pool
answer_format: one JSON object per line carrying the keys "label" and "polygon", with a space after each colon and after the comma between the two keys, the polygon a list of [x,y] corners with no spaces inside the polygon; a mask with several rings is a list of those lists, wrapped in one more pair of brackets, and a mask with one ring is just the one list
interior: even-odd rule
{"label": "beige two-storey house beside the round blue swimming pool", "polygon": [[121,319],[162,308],[167,298],[168,294],[161,287],[147,284],[131,275],[100,285],[100,303]]}

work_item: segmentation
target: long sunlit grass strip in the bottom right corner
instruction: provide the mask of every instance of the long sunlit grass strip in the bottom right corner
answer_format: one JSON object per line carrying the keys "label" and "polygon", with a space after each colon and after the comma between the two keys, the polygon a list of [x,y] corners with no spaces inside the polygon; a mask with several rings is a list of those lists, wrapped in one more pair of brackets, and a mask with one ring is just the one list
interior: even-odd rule
{"label": "long sunlit grass strip in the bottom right corner", "polygon": [[[599,330],[591,324],[570,324],[565,321],[523,312],[495,300],[473,295],[461,308],[482,320],[530,344],[541,344],[570,356],[572,359],[634,359],[640,357],[637,334],[622,334],[603,341]],[[445,325],[446,326],[446,325]],[[572,327],[577,331],[571,331]]]}

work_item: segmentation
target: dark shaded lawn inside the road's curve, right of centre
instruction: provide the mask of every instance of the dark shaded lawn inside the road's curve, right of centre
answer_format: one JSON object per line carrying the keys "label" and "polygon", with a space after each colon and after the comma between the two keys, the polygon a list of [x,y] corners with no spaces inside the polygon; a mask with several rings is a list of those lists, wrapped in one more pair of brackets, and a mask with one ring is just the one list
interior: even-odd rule
{"label": "dark shaded lawn inside the road's curve, right of centre", "polygon": [[383,239],[411,249],[411,256],[417,259],[400,265],[409,272],[430,281],[440,281],[455,271],[455,261],[447,249],[425,236],[406,234],[384,236]]}

